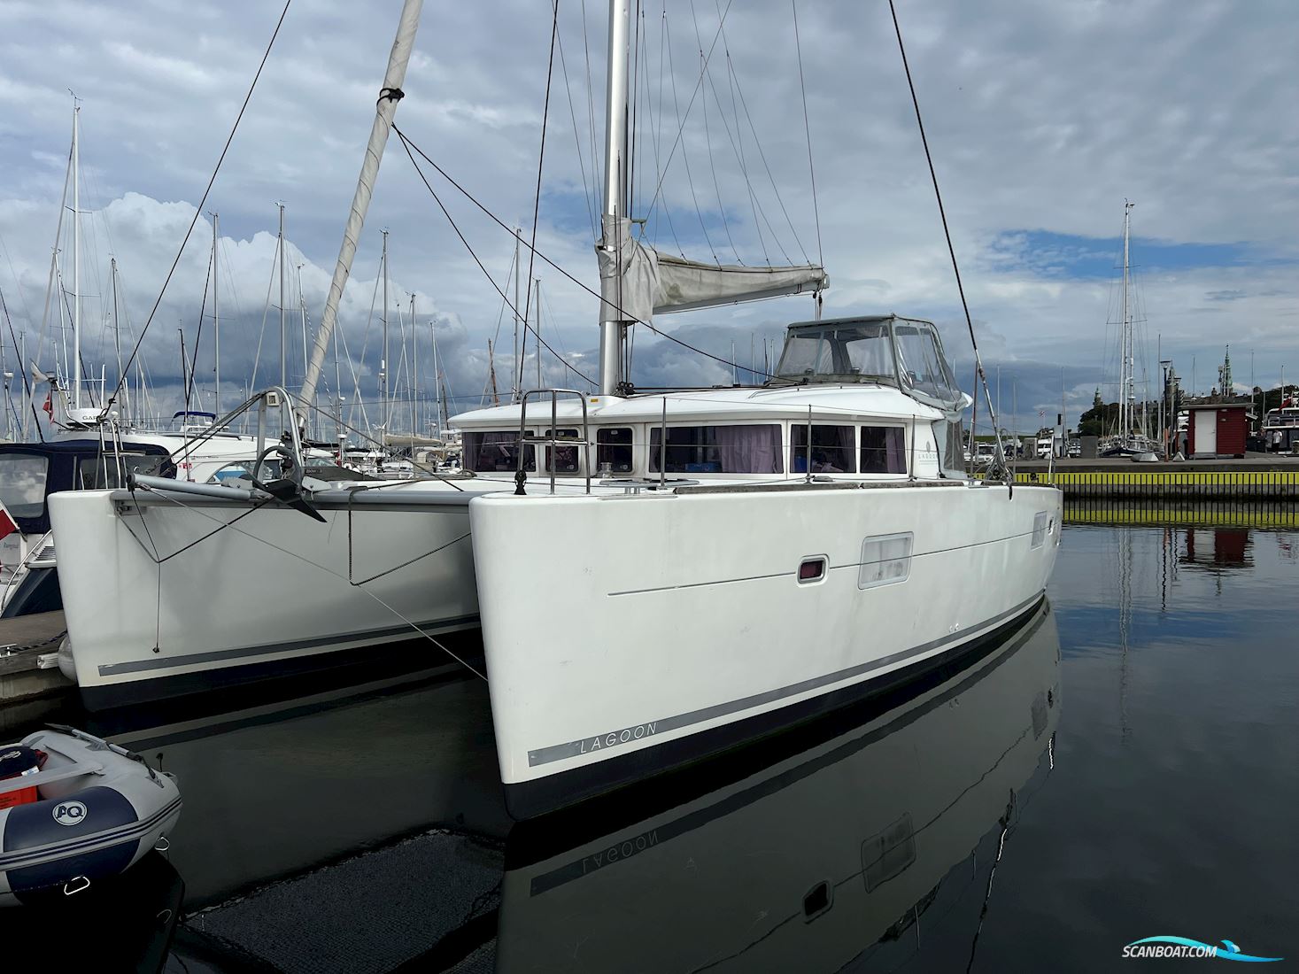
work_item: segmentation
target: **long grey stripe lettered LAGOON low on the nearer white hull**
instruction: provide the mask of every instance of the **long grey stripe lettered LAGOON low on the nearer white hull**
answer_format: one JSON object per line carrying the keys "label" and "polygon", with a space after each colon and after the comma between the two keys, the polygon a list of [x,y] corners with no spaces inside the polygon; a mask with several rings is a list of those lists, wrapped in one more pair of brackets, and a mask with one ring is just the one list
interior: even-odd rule
{"label": "long grey stripe lettered LAGOON low on the nearer white hull", "polygon": [[978,629],[969,630],[957,636],[946,636],[943,639],[935,639],[930,643],[924,643],[921,645],[913,647],[911,649],[903,649],[896,653],[890,653],[889,656],[881,656],[878,660],[868,660],[866,662],[860,662],[856,666],[848,666],[844,670],[837,670],[835,673],[827,673],[822,677],[812,677],[811,679],[799,681],[798,683],[791,683],[787,687],[778,687],[777,690],[766,690],[761,693],[753,693],[752,696],[740,697],[739,700],[730,700],[725,704],[713,704],[712,706],[704,706],[699,710],[691,710],[690,713],[678,714],[675,717],[664,717],[657,721],[646,721],[644,723],[633,725],[631,727],[621,727],[614,731],[608,731],[607,734],[596,734],[591,738],[582,738],[581,740],[570,740],[565,744],[552,744],[544,748],[536,748],[535,751],[527,752],[527,765],[529,768],[535,768],[536,765],[551,764],[552,761],[562,761],[565,757],[577,757],[578,755],[590,755],[592,752],[603,752],[608,748],[618,747],[620,744],[630,744],[634,740],[644,740],[646,738],[662,734],[665,731],[677,730],[678,727],[688,727],[692,723],[703,723],[704,721],[711,721],[714,717],[726,717],[727,714],[739,713],[740,710],[748,710],[753,706],[761,706],[769,704],[774,700],[782,700],[788,696],[795,696],[798,693],[804,693],[809,690],[817,690],[820,687],[830,686],[831,683],[839,683],[846,679],[852,679],[853,677],[860,677],[864,673],[872,673],[873,670],[881,670],[886,666],[891,666],[895,662],[903,662],[904,660],[911,660],[917,656],[925,656],[935,649],[940,649],[947,645],[956,645],[959,643],[973,639],[976,635],[996,626],[998,623],[1011,618],[1012,616],[1018,616],[1028,608],[1038,604],[1042,599],[1042,592],[1037,592],[1031,599],[1028,599],[1012,609],[994,616],[986,622],[981,623]]}

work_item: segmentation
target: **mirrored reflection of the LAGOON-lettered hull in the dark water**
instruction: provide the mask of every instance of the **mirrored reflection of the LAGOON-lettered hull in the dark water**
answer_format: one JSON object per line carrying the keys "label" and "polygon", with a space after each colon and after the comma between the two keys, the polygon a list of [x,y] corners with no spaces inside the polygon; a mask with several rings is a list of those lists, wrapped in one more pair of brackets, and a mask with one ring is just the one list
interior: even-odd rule
{"label": "mirrored reflection of the LAGOON-lettered hull in the dark water", "polygon": [[498,971],[964,969],[1053,764],[1050,604],[847,732],[635,825],[511,836]]}

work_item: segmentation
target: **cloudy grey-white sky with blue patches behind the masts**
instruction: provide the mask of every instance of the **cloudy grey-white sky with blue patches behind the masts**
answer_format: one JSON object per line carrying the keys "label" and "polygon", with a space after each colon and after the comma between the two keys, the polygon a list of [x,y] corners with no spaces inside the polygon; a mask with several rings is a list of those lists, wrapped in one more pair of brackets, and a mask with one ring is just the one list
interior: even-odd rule
{"label": "cloudy grey-white sky with blue patches behind the masts", "polygon": [[[313,326],[399,9],[399,0],[290,5],[204,204],[220,213],[223,405],[246,384],[279,375],[277,203],[290,240],[286,369],[291,383],[301,381],[299,288]],[[539,0],[429,4],[396,116],[416,145],[526,232],[551,10]],[[661,249],[722,262],[824,255],[826,314],[931,318],[969,386],[969,340],[887,4],[798,0],[814,203],[791,4],[657,0],[642,14],[634,205],[646,234]],[[121,336],[130,347],[278,16],[279,3],[247,0],[0,3],[0,291],[14,332],[27,336],[29,358],[40,344],[68,166],[69,90],[82,105],[82,355],[87,369],[105,365],[112,384],[109,258],[121,271]],[[1251,368],[1263,386],[1276,384],[1283,366],[1299,379],[1299,5],[902,0],[899,17],[1004,413],[1013,403],[1028,429],[1038,410],[1056,412],[1061,390],[1074,417],[1098,386],[1108,383],[1113,396],[1125,197],[1135,203],[1138,352],[1150,373],[1160,342],[1186,384],[1194,371],[1195,386],[1208,391],[1230,343],[1239,388]],[[592,212],[603,153],[592,145],[603,139],[605,31],[599,0],[585,9],[560,0],[536,231],[538,249],[588,286],[596,279]],[[491,278],[512,295],[509,234],[423,169]],[[69,222],[58,242],[68,291]],[[496,368],[508,388],[511,317],[394,136],[340,313],[351,362],[339,366],[343,395],[372,403],[377,395],[370,309],[382,230],[390,232],[391,304],[405,316],[416,295],[421,386],[433,374],[435,331],[453,408],[479,403],[488,339],[501,347]],[[192,356],[210,247],[204,213],[143,342],[155,409],[179,401],[178,329]],[[596,301],[542,262],[533,277],[542,281],[543,336],[591,374]],[[45,371],[56,368],[52,347],[68,339],[57,301],[53,308],[39,358]],[[210,295],[208,316],[197,352],[203,408],[212,408],[214,387]],[[811,300],[794,297],[659,325],[725,358],[734,343],[742,365],[751,355],[761,365],[764,343],[809,317]],[[13,369],[9,329],[0,327]],[[400,327],[409,336],[405,317]],[[394,371],[405,388],[397,332],[394,310]],[[535,375],[531,355],[530,343],[523,368]],[[543,366],[548,382],[581,384],[549,353]],[[333,395],[333,365],[326,373]],[[730,369],[646,332],[635,340],[634,378],[717,383],[730,381]]]}

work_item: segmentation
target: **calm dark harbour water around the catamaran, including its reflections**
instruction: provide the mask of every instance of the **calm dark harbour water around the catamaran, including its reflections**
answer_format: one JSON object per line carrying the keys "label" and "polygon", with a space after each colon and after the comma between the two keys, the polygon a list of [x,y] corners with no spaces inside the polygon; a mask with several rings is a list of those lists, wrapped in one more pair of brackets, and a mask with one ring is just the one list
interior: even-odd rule
{"label": "calm dark harbour water around the catamaran, including its reflections", "polygon": [[1293,968],[1296,592],[1296,532],[1070,526],[981,658],[529,829],[473,679],[121,734],[186,799],[148,880],[184,882],[168,969],[1218,964],[1121,958],[1155,935]]}

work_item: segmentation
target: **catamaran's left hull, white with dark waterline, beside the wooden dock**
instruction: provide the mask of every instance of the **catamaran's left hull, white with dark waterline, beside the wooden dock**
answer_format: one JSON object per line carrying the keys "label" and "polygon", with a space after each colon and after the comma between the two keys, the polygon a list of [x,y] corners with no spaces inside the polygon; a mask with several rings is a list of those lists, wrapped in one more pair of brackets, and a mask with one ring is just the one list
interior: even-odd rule
{"label": "catamaran's left hull, white with dark waterline, beside the wooden dock", "polygon": [[[477,629],[465,500],[321,505],[321,523],[201,497],[52,496],[83,703],[117,706],[362,652],[382,661],[375,647]],[[412,665],[451,662],[430,642],[417,655]]]}

